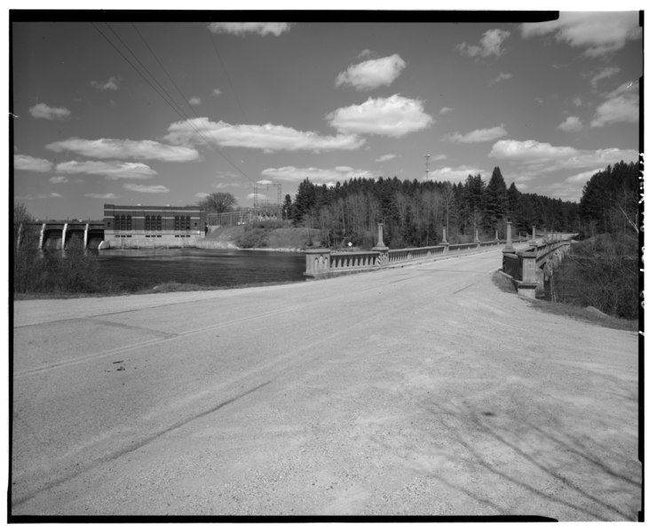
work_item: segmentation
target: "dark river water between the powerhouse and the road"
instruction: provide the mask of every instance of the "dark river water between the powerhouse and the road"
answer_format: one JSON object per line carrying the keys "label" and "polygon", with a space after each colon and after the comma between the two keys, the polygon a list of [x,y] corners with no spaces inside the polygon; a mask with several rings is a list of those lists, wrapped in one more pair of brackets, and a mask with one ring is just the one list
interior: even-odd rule
{"label": "dark river water between the powerhouse and the road", "polygon": [[131,291],[151,289],[162,282],[230,288],[305,280],[303,253],[190,248],[102,250],[98,257],[103,277]]}

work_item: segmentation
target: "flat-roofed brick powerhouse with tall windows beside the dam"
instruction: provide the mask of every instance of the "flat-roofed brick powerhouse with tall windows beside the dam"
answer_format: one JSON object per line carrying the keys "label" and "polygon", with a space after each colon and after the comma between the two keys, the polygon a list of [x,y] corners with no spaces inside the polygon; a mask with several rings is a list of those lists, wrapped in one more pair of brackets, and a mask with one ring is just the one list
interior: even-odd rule
{"label": "flat-roofed brick powerhouse with tall windows beside the dam", "polygon": [[178,248],[205,237],[200,207],[104,205],[101,248]]}

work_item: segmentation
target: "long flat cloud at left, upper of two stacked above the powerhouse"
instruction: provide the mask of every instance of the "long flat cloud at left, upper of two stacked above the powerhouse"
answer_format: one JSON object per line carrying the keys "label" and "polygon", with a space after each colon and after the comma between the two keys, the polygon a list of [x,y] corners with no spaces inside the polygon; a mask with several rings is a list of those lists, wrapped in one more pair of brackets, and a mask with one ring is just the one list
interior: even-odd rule
{"label": "long flat cloud at left, upper of two stacked above the powerhouse", "polygon": [[155,161],[195,161],[198,152],[191,147],[169,146],[154,140],[129,139],[67,139],[46,147],[55,152],[72,152],[96,159],[152,159]]}

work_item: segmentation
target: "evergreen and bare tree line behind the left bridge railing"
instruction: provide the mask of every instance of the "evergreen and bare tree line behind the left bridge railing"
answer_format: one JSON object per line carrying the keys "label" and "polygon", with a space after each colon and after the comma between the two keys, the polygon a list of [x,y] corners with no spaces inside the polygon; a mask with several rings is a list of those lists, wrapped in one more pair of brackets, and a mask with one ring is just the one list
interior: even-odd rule
{"label": "evergreen and bare tree line behind the left bridge railing", "polygon": [[576,231],[579,226],[576,202],[523,194],[514,183],[507,187],[499,167],[490,179],[469,175],[458,184],[380,177],[327,187],[305,179],[294,202],[286,196],[284,209],[295,226],[320,229],[322,242],[331,247],[346,242],[373,246],[379,222],[392,248],[438,244],[443,226],[452,243],[471,242],[475,229],[481,241],[494,239],[495,230],[503,239],[507,218],[516,234],[531,234],[533,226],[550,231]]}

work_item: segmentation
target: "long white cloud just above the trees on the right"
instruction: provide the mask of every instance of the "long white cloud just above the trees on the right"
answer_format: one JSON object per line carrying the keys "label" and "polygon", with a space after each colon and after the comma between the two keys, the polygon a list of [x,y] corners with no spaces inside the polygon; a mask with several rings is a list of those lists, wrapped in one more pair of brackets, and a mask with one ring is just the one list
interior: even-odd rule
{"label": "long white cloud just above the trees on the right", "polygon": [[619,161],[634,161],[636,150],[610,147],[597,150],[552,146],[536,140],[498,140],[489,157],[523,165],[526,171],[550,172],[564,169],[599,168]]}

